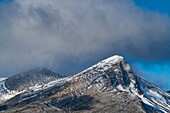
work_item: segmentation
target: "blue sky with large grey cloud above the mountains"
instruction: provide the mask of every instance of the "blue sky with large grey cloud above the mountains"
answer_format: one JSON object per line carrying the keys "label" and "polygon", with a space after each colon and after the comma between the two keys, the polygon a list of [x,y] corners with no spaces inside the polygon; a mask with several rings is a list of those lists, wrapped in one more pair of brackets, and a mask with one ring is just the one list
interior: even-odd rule
{"label": "blue sky with large grey cloud above the mountains", "polygon": [[169,0],[0,0],[0,75],[76,74],[109,56],[170,89]]}

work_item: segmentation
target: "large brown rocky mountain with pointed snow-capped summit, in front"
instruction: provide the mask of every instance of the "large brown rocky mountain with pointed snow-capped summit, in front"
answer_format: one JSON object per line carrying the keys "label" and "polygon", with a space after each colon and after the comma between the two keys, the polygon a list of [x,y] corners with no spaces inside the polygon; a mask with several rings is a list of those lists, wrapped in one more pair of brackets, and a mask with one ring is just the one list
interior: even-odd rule
{"label": "large brown rocky mountain with pointed snow-capped summit, in front", "polygon": [[[40,83],[38,78],[35,81]],[[170,112],[170,94],[135,74],[122,56],[112,56],[76,75],[23,91],[6,88],[15,96],[1,102],[1,113]]]}

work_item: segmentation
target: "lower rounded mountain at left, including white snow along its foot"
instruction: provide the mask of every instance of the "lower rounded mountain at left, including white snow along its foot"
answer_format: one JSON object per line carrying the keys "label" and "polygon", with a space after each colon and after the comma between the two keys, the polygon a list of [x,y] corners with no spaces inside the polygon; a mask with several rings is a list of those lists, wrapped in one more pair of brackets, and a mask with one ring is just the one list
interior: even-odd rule
{"label": "lower rounded mountain at left, including white snow along its foot", "polygon": [[0,82],[0,102],[4,102],[31,87],[44,85],[50,81],[62,78],[47,68],[35,68],[9,77]]}

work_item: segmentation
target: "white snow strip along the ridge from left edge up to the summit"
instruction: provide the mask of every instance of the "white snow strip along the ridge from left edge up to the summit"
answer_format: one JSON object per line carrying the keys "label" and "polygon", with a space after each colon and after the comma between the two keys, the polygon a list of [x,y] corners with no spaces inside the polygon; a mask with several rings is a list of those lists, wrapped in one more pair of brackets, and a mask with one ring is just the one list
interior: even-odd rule
{"label": "white snow strip along the ridge from left edge up to the summit", "polygon": [[[84,70],[83,72],[86,72],[87,70],[92,70],[94,67],[105,67],[105,65],[107,65],[104,70],[108,70],[109,68],[111,68],[113,66],[113,64],[116,64],[120,61],[122,61],[124,58],[122,56],[119,56],[119,55],[115,55],[115,56],[112,56],[112,57],[109,57],[105,60],[102,60],[101,62],[91,66],[90,68]],[[103,70],[102,70],[103,71]],[[75,76],[77,75],[80,75],[82,74],[83,72],[80,72],[78,74],[76,74]],[[57,80],[54,80],[54,81],[51,81],[47,84],[37,84],[35,86],[32,86],[29,88],[29,90],[33,90],[33,91],[39,91],[39,90],[43,90],[43,89],[47,89],[59,82],[66,82],[66,81],[70,81],[72,78],[74,78],[74,76],[69,76],[69,77],[65,77],[65,78],[60,78],[60,79],[57,79]],[[2,85],[1,85],[2,84]],[[27,90],[22,90],[22,91],[11,91],[11,90],[8,90],[5,86],[5,82],[4,81],[0,81],[0,103],[2,102],[5,102],[13,97],[15,97],[16,95],[18,94],[21,94],[21,93],[24,93],[26,92]],[[1,91],[1,90],[4,90],[5,92],[7,93],[3,93],[4,91]]]}

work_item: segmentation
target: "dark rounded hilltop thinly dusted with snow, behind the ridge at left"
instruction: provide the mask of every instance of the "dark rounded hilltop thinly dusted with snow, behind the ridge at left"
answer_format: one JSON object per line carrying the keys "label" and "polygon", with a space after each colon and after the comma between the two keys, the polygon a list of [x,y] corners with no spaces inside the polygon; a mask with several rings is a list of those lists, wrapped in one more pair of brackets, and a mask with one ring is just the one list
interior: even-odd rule
{"label": "dark rounded hilltop thinly dusted with snow, behind the ridge at left", "polygon": [[48,83],[49,81],[58,78],[62,78],[62,76],[47,68],[35,68],[9,77],[5,80],[5,84],[8,89],[16,90],[18,88],[30,87],[39,83]]}

